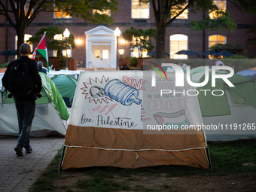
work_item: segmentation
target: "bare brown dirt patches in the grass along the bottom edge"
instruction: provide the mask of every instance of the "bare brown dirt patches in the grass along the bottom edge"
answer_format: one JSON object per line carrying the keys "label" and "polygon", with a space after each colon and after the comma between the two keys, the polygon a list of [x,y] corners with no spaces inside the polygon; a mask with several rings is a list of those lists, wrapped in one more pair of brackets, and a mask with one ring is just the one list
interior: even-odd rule
{"label": "bare brown dirt patches in the grass along the bottom edge", "polygon": [[[58,188],[60,186],[62,187],[55,191],[63,191],[64,186],[70,190],[79,190],[75,187],[78,179],[92,178],[87,172],[78,172],[75,170],[62,171],[60,175],[61,178],[54,179],[53,184],[58,186]],[[248,192],[255,191],[256,189],[256,172],[221,176],[193,175],[188,177],[170,177],[165,173],[160,175],[130,175],[129,177],[114,175],[113,178],[106,179],[126,184],[133,188],[130,191]]]}

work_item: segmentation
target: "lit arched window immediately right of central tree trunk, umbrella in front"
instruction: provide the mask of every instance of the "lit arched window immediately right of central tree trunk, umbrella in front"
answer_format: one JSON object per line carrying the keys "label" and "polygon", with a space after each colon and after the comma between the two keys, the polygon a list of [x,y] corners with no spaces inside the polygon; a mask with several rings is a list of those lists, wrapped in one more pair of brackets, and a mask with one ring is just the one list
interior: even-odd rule
{"label": "lit arched window immediately right of central tree trunk, umbrella in front", "polygon": [[175,54],[179,50],[187,50],[187,35],[171,35],[170,36],[170,56],[171,59],[187,59],[187,55],[178,55]]}

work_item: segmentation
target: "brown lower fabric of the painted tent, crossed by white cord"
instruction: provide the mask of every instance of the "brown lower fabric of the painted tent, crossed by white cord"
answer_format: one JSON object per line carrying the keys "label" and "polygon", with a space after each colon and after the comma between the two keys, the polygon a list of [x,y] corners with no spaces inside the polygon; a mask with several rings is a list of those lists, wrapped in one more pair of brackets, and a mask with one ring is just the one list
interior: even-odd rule
{"label": "brown lower fabric of the painted tent, crossed by white cord", "polygon": [[193,166],[209,169],[203,134],[143,134],[123,130],[69,125],[68,148],[62,169],[90,166],[141,168]]}

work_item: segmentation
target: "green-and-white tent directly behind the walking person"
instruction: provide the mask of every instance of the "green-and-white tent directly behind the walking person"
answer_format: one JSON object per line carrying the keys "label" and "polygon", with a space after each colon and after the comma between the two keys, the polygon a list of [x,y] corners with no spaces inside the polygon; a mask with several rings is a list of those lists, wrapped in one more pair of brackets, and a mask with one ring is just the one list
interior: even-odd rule
{"label": "green-and-white tent directly behind the walking person", "polygon": [[[43,84],[42,97],[36,100],[35,118],[30,136],[39,137],[49,134],[64,136],[66,126],[63,120],[69,119],[69,110],[53,81],[44,73],[39,72],[39,74]],[[1,80],[2,75],[0,75]],[[0,94],[0,136],[18,136],[19,129],[14,99],[13,97],[8,98],[7,94],[6,91]]]}

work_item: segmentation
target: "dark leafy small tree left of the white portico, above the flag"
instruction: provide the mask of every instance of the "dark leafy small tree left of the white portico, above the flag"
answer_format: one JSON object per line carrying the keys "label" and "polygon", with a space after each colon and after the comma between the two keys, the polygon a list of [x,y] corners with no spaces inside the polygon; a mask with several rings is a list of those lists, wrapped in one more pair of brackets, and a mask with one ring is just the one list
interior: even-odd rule
{"label": "dark leafy small tree left of the white portico, above the flag", "polygon": [[[60,53],[63,49],[66,49],[66,39],[64,38],[63,32],[64,29],[60,29],[59,26],[50,26],[46,28],[41,28],[38,32],[35,32],[35,36],[29,38],[28,43],[32,43],[37,45],[41,40],[41,37],[46,32],[45,38],[47,41],[47,48],[51,50],[58,50],[57,56],[60,56]],[[62,34],[63,40],[56,40],[54,39],[55,35]],[[75,49],[75,41],[74,35],[70,33],[68,38],[68,46],[71,46],[72,49]]]}

